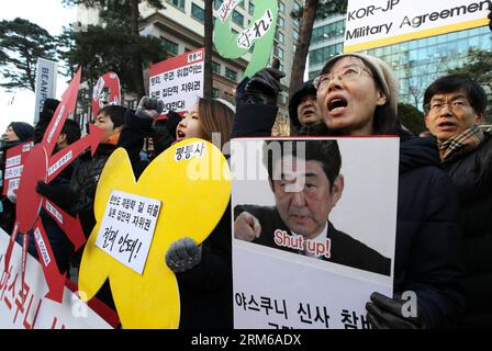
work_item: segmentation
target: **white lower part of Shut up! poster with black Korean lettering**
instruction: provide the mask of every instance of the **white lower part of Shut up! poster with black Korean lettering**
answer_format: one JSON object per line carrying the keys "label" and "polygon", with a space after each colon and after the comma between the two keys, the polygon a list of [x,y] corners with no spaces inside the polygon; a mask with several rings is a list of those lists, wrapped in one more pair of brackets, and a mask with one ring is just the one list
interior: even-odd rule
{"label": "white lower part of Shut up! poster with black Korean lettering", "polygon": [[378,274],[367,273],[373,280],[366,281],[335,263],[292,259],[239,240],[233,248],[237,329],[369,329],[370,294],[392,296]]}

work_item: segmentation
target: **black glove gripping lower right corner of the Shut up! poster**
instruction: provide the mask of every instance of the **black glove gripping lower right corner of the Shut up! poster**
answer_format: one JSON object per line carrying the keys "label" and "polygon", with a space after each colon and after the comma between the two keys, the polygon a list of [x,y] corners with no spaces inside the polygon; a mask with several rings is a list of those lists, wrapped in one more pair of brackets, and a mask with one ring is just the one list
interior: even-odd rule
{"label": "black glove gripping lower right corner of the Shut up! poster", "polygon": [[[424,329],[424,322],[418,314],[417,306],[415,308],[416,317],[404,317],[407,310],[406,302],[395,296],[390,298],[379,293],[372,293],[371,302],[366,304],[367,318],[373,329]],[[415,302],[416,303],[416,302]]]}

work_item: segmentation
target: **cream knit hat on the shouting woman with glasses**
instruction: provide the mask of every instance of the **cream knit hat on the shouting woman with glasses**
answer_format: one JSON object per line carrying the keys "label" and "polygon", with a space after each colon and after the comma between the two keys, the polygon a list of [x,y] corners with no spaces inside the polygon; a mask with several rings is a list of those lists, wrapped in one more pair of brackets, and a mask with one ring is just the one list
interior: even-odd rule
{"label": "cream knit hat on the shouting woman with glasses", "polygon": [[338,56],[334,56],[333,58],[328,59],[328,61],[325,64],[325,66],[322,69],[322,75],[327,73],[329,71],[329,68],[340,58],[347,57],[347,56],[354,56],[360,58],[374,73],[376,73],[376,80],[381,83],[382,91],[387,95],[387,104],[390,105],[392,112],[396,115],[396,107],[398,107],[398,100],[399,100],[399,82],[396,78],[393,75],[393,71],[391,70],[390,66],[388,66],[387,63],[382,61],[381,59],[369,56],[366,54],[358,54],[358,53],[349,53],[349,54],[342,54]]}

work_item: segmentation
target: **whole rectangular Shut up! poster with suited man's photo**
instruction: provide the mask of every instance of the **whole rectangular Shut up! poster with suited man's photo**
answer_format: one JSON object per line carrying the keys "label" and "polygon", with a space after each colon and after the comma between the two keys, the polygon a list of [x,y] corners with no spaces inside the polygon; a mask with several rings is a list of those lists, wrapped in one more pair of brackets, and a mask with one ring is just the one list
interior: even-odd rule
{"label": "whole rectangular Shut up! poster with suited man's photo", "polygon": [[393,290],[399,139],[231,150],[235,328],[369,328],[370,294]]}

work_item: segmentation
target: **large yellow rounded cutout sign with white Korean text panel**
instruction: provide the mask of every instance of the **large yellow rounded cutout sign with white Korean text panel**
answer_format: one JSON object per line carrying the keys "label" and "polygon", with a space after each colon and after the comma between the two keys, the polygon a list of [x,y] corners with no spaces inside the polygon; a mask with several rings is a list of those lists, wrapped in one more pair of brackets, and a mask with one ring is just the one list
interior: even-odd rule
{"label": "large yellow rounded cutout sign with white Korean text panel", "polygon": [[[163,174],[166,174],[165,179]],[[213,194],[213,201],[210,201],[210,194]],[[203,242],[224,214],[230,195],[227,162],[220,149],[209,141],[190,138],[174,144],[148,165],[138,181],[126,151],[116,149],[108,159],[98,183],[94,202],[97,225],[80,263],[80,290],[91,298],[109,279],[123,328],[178,328],[180,296],[176,275],[166,264],[166,252],[172,242],[183,237],[190,237],[198,245]],[[146,205],[142,211],[148,216],[157,216],[142,273],[134,270],[133,260],[128,262],[127,249],[132,249],[139,239],[133,214],[128,218],[132,201],[135,201],[133,211],[138,211],[139,202],[143,202]],[[121,210],[122,206],[128,210]],[[110,218],[111,210],[108,207],[116,211],[113,211],[116,217],[112,218],[113,222],[104,222]],[[149,219],[148,216],[145,220]],[[114,219],[120,222],[118,227],[121,228],[116,235],[130,238],[126,234],[131,233],[133,240],[130,246],[124,244],[121,260],[108,252],[108,247],[101,248],[107,237],[110,242],[110,233],[105,236],[101,228],[108,228]],[[138,219],[138,226],[142,224],[144,228],[145,220],[141,223]],[[150,224],[148,226],[150,228]],[[115,228],[113,225],[110,231],[115,231]],[[149,233],[143,235],[149,236]],[[102,245],[96,244],[98,239]],[[120,250],[120,245],[115,239],[113,241]],[[144,252],[143,249],[138,252],[142,259]]]}

